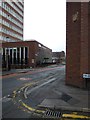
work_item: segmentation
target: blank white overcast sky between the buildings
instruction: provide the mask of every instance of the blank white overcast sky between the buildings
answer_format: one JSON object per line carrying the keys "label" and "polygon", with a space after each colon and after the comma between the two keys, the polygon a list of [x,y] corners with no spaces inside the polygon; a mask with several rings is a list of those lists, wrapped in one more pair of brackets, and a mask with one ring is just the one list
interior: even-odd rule
{"label": "blank white overcast sky between the buildings", "polygon": [[24,0],[24,40],[66,51],[66,1]]}

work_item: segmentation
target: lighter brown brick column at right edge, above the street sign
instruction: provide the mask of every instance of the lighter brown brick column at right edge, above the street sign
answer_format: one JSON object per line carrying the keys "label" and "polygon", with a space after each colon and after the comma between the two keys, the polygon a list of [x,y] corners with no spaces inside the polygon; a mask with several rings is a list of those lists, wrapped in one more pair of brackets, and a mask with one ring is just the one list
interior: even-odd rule
{"label": "lighter brown brick column at right edge, above the street sign", "polygon": [[85,87],[83,74],[88,73],[88,2],[81,3],[81,50],[80,50],[80,80]]}

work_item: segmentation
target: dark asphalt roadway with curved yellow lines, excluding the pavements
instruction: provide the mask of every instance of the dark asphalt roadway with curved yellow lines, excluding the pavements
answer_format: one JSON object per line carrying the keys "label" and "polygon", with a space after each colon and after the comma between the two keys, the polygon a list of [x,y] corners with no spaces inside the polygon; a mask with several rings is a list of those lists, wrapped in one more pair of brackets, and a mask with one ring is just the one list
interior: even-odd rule
{"label": "dark asphalt roadway with curved yellow lines, excluding the pavements", "polygon": [[3,76],[2,117],[41,117],[43,110],[40,104],[46,99],[56,97],[54,91],[63,80],[65,80],[65,66],[61,65]]}

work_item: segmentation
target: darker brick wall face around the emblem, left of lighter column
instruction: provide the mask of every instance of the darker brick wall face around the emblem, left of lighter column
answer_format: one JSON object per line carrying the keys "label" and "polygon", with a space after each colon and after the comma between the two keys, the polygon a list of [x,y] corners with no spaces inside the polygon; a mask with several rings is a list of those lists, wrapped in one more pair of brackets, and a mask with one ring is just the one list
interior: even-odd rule
{"label": "darker brick wall face around the emblem, left of lighter column", "polygon": [[[66,10],[66,84],[80,86],[81,4],[68,2]],[[77,12],[77,20],[73,21]]]}

